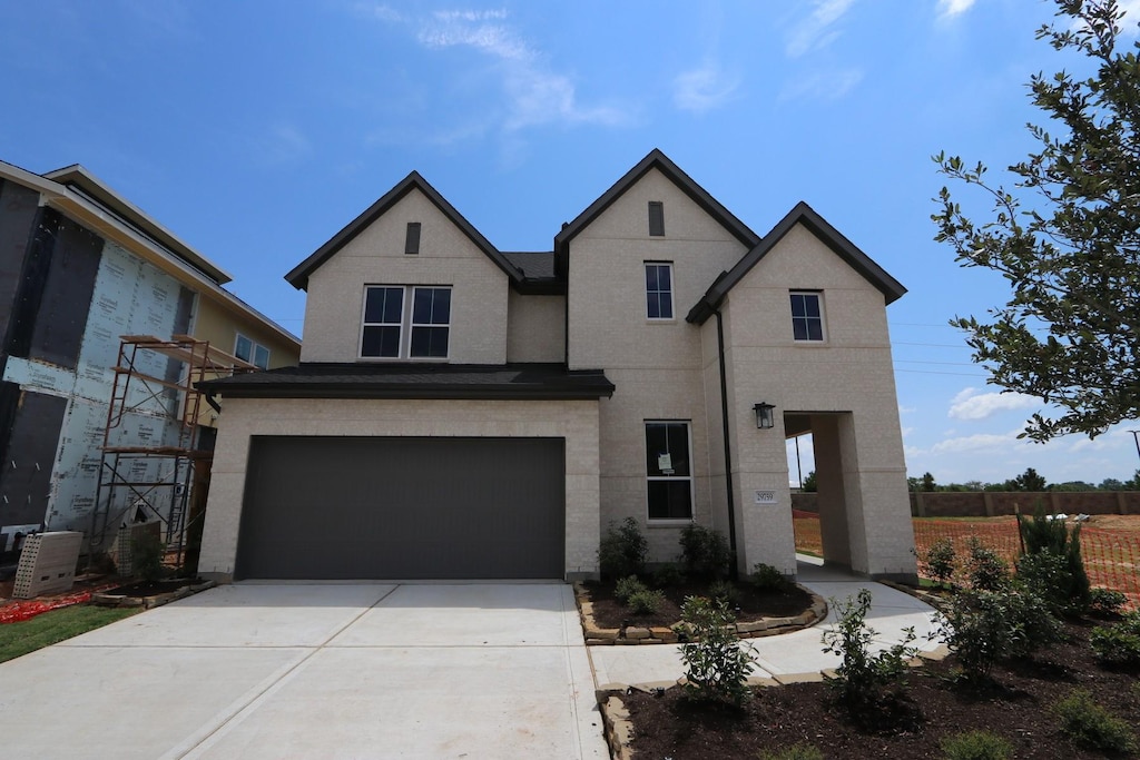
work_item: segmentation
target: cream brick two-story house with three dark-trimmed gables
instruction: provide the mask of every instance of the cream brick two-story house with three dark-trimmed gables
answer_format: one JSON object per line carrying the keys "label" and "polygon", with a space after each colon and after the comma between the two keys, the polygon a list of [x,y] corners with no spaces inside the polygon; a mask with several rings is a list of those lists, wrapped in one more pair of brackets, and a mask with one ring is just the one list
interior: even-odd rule
{"label": "cream brick two-story house with three dark-trimmed gables", "polygon": [[886,305],[805,204],[759,236],[653,150],[498,251],[413,172],[291,271],[298,367],[225,397],[199,570],[584,578],[634,517],[796,572],[785,436],[813,433],[826,559],[913,577]]}

